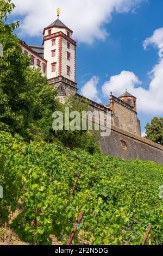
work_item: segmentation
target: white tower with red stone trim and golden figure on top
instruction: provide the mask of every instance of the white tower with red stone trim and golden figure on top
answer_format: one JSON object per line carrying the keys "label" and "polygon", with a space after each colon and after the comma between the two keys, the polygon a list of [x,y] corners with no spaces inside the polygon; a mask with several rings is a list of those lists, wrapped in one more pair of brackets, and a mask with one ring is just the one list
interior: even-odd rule
{"label": "white tower with red stone trim and golden figure on top", "polygon": [[43,30],[44,58],[47,60],[47,78],[61,96],[77,93],[76,41],[72,31],[58,19]]}

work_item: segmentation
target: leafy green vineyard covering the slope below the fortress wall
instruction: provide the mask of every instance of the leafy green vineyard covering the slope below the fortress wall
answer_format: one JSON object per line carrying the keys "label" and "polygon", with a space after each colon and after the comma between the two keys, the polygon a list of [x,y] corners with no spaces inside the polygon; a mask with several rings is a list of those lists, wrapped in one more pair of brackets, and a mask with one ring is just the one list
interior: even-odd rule
{"label": "leafy green vineyard covering the slope below the fortress wall", "polygon": [[0,223],[21,204],[11,228],[22,241],[51,245],[55,235],[65,244],[85,211],[74,244],[140,245],[150,224],[146,244],[163,243],[163,166],[61,143],[28,144],[7,132],[0,135],[0,157]]}

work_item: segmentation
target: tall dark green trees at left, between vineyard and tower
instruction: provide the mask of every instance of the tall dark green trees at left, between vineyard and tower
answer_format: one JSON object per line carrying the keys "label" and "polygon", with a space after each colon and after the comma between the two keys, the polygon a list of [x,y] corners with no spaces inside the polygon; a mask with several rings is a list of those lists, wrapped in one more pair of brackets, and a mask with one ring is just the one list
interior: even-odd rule
{"label": "tall dark green trees at left, between vineyard and tower", "polygon": [[0,0],[0,129],[18,133],[26,141],[52,141],[52,114],[59,108],[57,93],[49,86],[40,70],[30,69],[30,59],[22,53],[13,30],[18,23],[5,25],[8,13],[15,7],[10,1]]}

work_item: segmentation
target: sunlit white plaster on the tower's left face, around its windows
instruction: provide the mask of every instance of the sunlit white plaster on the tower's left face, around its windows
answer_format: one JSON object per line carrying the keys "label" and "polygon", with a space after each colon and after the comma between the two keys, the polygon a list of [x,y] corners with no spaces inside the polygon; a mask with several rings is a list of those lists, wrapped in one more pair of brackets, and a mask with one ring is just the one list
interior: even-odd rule
{"label": "sunlit white plaster on the tower's left face, around its windows", "polygon": [[[55,50],[55,57],[52,57],[52,50]],[[58,74],[58,56],[59,56],[59,37],[55,40],[55,45],[52,46],[52,39],[44,42],[44,58],[47,60],[47,78],[57,77]],[[56,71],[52,72],[52,63],[57,62]]]}

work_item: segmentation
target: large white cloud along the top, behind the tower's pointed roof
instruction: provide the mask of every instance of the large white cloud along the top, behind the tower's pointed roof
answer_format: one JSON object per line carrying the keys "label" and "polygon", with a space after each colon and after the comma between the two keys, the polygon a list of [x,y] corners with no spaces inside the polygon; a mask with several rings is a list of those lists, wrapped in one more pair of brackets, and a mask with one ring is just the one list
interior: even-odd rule
{"label": "large white cloud along the top, behind the tower's pointed roof", "polygon": [[74,39],[92,43],[108,36],[104,25],[111,22],[113,13],[128,13],[147,0],[12,0],[16,9],[12,15],[22,17],[21,36],[39,36],[43,28],[60,19],[74,31]]}

